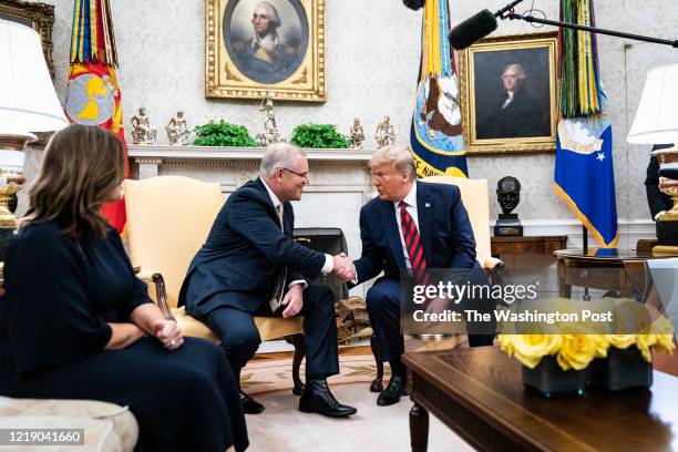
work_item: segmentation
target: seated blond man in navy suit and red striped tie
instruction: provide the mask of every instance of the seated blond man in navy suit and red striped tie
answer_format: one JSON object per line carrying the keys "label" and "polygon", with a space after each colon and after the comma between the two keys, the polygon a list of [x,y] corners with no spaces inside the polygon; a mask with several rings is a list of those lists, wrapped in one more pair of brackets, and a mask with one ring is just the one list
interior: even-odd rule
{"label": "seated blond man in navy suit and red striped tie", "polygon": [[[377,403],[390,405],[405,394],[405,368],[400,360],[404,351],[400,333],[401,270],[410,269],[418,278],[428,277],[427,269],[433,268],[477,269],[469,273],[476,278],[473,282],[485,285],[486,279],[480,276],[482,280],[477,280],[482,270],[458,187],[417,182],[414,158],[408,147],[380,148],[370,161],[370,170],[379,196],[360,210],[362,256],[353,263],[355,274],[340,271],[339,276],[360,284],[383,271],[368,291],[367,309],[380,356],[389,361],[392,373]],[[432,300],[432,305],[440,301]],[[490,307],[489,300],[471,301],[479,310]],[[492,345],[492,340],[491,335],[469,336],[471,346]]]}

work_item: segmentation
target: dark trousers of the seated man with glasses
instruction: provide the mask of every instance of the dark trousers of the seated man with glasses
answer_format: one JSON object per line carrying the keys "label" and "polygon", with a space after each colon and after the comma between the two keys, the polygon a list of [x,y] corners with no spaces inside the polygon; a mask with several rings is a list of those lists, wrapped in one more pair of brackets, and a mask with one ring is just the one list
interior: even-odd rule
{"label": "dark trousers of the seated man with glasses", "polygon": [[[214,297],[225,296],[216,294]],[[224,300],[226,302],[226,300]],[[273,317],[268,305],[256,312],[247,312],[228,306],[214,309],[199,320],[220,339],[222,348],[239,381],[240,370],[254,357],[261,338],[254,316]],[[306,342],[306,376],[327,378],[339,373],[337,355],[337,321],[335,295],[320,285],[309,285],[304,290],[304,340]]]}

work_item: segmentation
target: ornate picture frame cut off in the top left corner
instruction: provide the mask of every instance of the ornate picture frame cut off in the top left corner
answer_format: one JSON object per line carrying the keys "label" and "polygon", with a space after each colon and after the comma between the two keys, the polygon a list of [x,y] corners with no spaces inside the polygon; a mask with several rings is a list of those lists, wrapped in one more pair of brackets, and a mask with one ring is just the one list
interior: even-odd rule
{"label": "ornate picture frame cut off in the top left corner", "polygon": [[54,7],[47,3],[29,3],[18,0],[0,0],[0,18],[23,23],[35,30],[42,39],[42,51],[54,80],[54,62],[52,59],[52,25],[54,24]]}

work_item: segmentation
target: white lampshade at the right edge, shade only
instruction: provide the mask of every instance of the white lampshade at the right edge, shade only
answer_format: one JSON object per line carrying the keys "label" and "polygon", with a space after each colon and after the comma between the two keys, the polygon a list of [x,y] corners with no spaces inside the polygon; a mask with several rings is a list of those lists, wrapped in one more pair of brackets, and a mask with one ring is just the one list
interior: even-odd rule
{"label": "white lampshade at the right edge, shade only", "polygon": [[678,143],[678,64],[661,65],[647,73],[643,97],[626,141]]}

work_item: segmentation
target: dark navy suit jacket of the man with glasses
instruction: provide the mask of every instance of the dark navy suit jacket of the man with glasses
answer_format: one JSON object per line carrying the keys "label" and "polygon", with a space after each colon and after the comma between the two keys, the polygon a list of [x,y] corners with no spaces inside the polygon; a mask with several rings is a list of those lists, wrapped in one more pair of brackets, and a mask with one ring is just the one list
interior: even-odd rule
{"label": "dark navy suit jacket of the man with glasses", "polygon": [[[229,306],[256,311],[270,298],[278,273],[287,267],[288,281],[316,278],[325,255],[292,239],[295,214],[284,207],[285,234],[259,178],[236,189],[217,215],[207,242],[195,255],[179,292],[179,306],[204,316]],[[212,297],[223,292],[226,296]]]}

